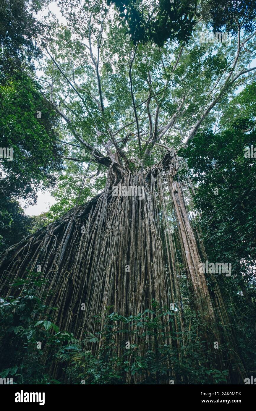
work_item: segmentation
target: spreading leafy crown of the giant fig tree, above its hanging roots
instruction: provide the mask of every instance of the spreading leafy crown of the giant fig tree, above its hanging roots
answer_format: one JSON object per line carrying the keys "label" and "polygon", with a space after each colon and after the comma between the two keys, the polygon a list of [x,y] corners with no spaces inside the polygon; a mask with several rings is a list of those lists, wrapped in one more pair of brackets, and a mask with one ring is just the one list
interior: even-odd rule
{"label": "spreading leafy crown of the giant fig tree, above its hanging roots", "polygon": [[62,117],[67,161],[76,162],[81,175],[81,164],[92,155],[95,184],[111,164],[118,173],[158,162],[166,147],[179,148],[201,126],[226,121],[240,86],[253,90],[252,26],[241,32],[238,25],[230,44],[202,43],[206,27],[194,14],[187,44],[170,38],[159,48],[143,36],[133,42],[119,10],[105,2],[59,5],[67,23],[46,19],[39,83]]}

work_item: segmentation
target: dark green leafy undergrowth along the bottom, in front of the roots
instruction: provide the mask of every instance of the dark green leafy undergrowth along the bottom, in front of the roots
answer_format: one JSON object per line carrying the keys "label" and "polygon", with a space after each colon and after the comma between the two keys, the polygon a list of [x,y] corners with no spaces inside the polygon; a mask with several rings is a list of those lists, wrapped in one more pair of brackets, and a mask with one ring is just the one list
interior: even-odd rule
{"label": "dark green leafy undergrowth along the bottom, in front of the roots", "polygon": [[[101,332],[78,341],[72,333],[60,331],[53,322],[57,308],[51,309],[36,297],[35,286],[42,283],[40,274],[32,272],[26,280],[18,279],[13,286],[14,292],[15,287],[24,287],[21,296],[0,299],[0,377],[13,378],[16,384],[125,384],[128,375],[135,379],[136,375],[142,375],[144,384],[169,383],[173,375],[175,383],[183,384],[226,380],[228,371],[219,372],[214,368],[214,353],[203,348],[196,328],[190,330],[191,344],[183,346],[182,333],[172,336],[173,346],[166,344],[165,325],[174,321],[175,314],[159,308],[156,302],[154,309],[128,318],[115,312],[108,314]],[[118,356],[115,337],[119,336],[125,347],[135,334],[140,336],[140,342],[131,343],[125,353]],[[152,336],[157,337],[159,343],[153,348],[149,342],[147,351],[141,352],[140,344],[144,339],[152,341],[149,338]],[[99,339],[103,339],[104,344],[96,355],[94,346]],[[83,350],[85,341],[91,343],[91,350]],[[175,341],[182,346],[180,357]],[[38,342],[42,344],[41,349],[37,348]],[[43,365],[42,355],[47,347],[51,347],[51,351],[47,364]],[[52,380],[50,369],[56,361],[62,363],[65,375]]]}

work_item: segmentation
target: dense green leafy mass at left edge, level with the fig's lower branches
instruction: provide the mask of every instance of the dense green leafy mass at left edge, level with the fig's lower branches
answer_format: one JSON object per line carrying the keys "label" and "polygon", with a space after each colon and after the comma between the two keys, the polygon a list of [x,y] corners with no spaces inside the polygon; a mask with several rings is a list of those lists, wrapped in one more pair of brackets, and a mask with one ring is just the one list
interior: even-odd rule
{"label": "dense green leafy mass at left edge, level with the fig's lower branches", "polygon": [[12,161],[0,159],[1,195],[35,200],[36,190],[53,187],[54,171],[62,170],[58,117],[26,74],[5,79],[0,96],[1,146],[13,148]]}

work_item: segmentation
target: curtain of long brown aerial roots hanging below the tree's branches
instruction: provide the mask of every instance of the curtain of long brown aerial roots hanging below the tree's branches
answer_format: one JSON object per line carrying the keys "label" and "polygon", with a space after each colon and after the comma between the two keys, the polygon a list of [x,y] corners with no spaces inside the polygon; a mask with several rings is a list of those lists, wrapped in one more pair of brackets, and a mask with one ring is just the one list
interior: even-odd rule
{"label": "curtain of long brown aerial roots hanging below the tree's branches", "polygon": [[[164,343],[177,347],[180,353],[188,343],[185,302],[180,291],[182,276],[187,275],[194,309],[208,324],[217,324],[221,304],[217,309],[213,306],[205,276],[199,272],[201,258],[183,187],[175,180],[178,166],[177,157],[167,153],[162,166],[147,176],[127,172],[118,187],[113,187],[110,171],[104,192],[96,199],[77,207],[75,213],[71,210],[2,254],[1,295],[21,293],[19,289],[15,294],[12,284],[41,266],[45,282],[37,296],[46,305],[58,307],[55,323],[78,339],[102,330],[109,307],[111,312],[129,317],[147,309],[153,311],[153,302],[157,301],[160,307],[168,307],[168,315],[173,316],[173,321],[164,325]],[[218,332],[216,325],[213,335]],[[148,335],[143,340],[142,333],[142,328],[139,333],[116,333],[118,356],[124,353],[129,335],[130,344],[140,342],[141,355],[149,347],[154,349],[162,338],[159,334],[156,342],[154,336]],[[99,338],[93,345],[85,344],[85,350],[97,352],[104,344],[104,339]],[[172,369],[170,358],[166,365]],[[139,379],[127,376],[127,382]]]}

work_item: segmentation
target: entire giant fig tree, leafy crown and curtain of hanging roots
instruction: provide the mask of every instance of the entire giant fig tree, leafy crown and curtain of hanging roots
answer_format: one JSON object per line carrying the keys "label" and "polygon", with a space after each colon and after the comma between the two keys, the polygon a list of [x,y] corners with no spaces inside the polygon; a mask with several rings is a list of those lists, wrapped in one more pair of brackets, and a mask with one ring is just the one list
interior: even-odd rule
{"label": "entire giant fig tree, leafy crown and curtain of hanging roots", "polygon": [[[158,2],[143,5],[150,14]],[[212,127],[235,90],[254,80],[256,67],[249,63],[256,32],[241,35],[238,25],[231,44],[201,43],[198,18],[187,44],[172,38],[159,48],[132,42],[119,12],[104,0],[65,0],[60,9],[66,24],[53,18],[41,37],[45,59],[38,81],[62,118],[65,158],[78,164],[79,173],[85,164],[86,171],[74,208],[2,254],[2,293],[39,267],[46,280],[39,295],[59,307],[55,320],[78,338],[84,330],[101,330],[108,307],[129,316],[152,309],[157,300],[173,308],[166,344],[178,350],[189,308],[200,319],[202,346],[231,347],[215,351],[219,369],[228,369],[227,381],[243,381],[217,279],[201,271],[207,257],[199,228],[191,225],[189,180],[180,179],[185,164],[177,151],[201,126]],[[89,176],[95,187],[106,177],[103,192],[79,205]],[[119,185],[122,195],[115,195]],[[128,196],[127,187],[143,187],[143,195]],[[116,339],[122,353],[125,339]],[[103,338],[94,349],[102,345]]]}

